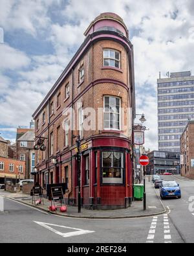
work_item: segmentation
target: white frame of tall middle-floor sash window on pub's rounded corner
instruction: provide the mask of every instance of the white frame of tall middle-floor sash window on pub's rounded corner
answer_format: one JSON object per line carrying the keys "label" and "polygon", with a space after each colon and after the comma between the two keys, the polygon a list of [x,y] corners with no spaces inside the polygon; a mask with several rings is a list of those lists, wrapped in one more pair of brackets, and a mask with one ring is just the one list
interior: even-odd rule
{"label": "white frame of tall middle-floor sash window on pub's rounded corner", "polygon": [[[119,113],[117,113],[117,112],[111,112],[111,111],[105,111],[105,98],[107,98],[107,97],[109,97],[109,106],[110,106],[110,98],[114,98],[114,99],[119,99]],[[115,108],[116,108],[116,105],[115,105]],[[117,128],[111,128],[111,119],[109,119],[109,128],[105,128],[105,114],[110,114],[111,115],[111,113],[113,114],[113,115],[119,115],[119,128],[117,129]],[[122,117],[121,117],[121,98],[119,98],[119,97],[114,97],[114,96],[111,96],[111,95],[105,95],[104,97],[103,97],[103,129],[104,130],[113,130],[113,131],[120,131],[121,130],[121,120],[122,120]],[[114,124],[114,122],[113,122],[113,124]],[[113,125],[114,126],[114,125]]]}

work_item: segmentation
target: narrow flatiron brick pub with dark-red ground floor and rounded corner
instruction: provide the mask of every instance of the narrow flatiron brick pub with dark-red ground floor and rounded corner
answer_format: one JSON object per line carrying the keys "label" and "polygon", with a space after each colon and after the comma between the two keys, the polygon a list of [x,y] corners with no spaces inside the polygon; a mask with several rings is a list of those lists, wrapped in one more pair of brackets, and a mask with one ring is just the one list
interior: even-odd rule
{"label": "narrow flatiron brick pub with dark-red ground floor and rounded corner", "polygon": [[[36,152],[35,179],[44,187],[67,183],[65,197],[72,204],[78,203],[78,135],[83,207],[116,209],[131,204],[135,84],[128,37],[116,14],[96,17],[80,49],[33,114],[36,136],[47,138],[47,150]],[[68,108],[75,115],[67,118]],[[86,113],[87,108],[94,112]],[[89,119],[96,128],[85,129],[83,122]]]}

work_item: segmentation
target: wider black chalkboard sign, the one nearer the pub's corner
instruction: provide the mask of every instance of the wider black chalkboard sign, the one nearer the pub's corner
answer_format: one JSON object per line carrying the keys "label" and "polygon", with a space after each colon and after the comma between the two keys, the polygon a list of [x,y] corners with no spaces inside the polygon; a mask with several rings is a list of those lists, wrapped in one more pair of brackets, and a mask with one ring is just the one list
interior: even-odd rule
{"label": "wider black chalkboard sign, the one nearer the pub's corner", "polygon": [[63,194],[67,189],[66,183],[59,184],[47,184],[47,198],[48,200],[61,200],[63,199]]}

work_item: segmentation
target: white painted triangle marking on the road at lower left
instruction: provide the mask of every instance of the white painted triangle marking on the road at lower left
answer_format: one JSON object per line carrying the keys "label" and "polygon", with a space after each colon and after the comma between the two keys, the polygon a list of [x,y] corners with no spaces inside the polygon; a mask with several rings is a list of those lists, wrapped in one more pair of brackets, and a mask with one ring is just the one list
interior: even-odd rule
{"label": "white painted triangle marking on the road at lower left", "polygon": [[[91,230],[84,230],[84,229],[78,229],[78,228],[74,228],[74,227],[59,226],[59,225],[56,225],[56,224],[50,224],[50,223],[44,223],[44,222],[35,222],[35,223],[38,224],[39,226],[45,227],[46,229],[56,233],[57,235],[60,235],[61,237],[74,237],[76,235],[86,235],[86,234],[95,232],[95,231],[91,231]],[[61,233],[61,232],[57,231],[56,229],[54,229],[50,226],[62,227],[62,228],[65,228],[65,229],[73,229],[75,231],[68,232],[68,233]]]}

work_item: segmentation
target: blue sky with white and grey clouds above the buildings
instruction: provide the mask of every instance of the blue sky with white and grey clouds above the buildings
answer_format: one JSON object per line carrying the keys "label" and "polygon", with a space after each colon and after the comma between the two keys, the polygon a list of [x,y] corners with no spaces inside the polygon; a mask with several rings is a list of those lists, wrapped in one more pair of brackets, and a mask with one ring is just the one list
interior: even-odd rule
{"label": "blue sky with white and grey clouds above the buildings", "polygon": [[[103,12],[129,29],[135,51],[136,113],[146,148],[157,149],[156,79],[194,67],[193,0],[0,0],[0,133],[14,141]],[[194,74],[194,71],[193,71]]]}

